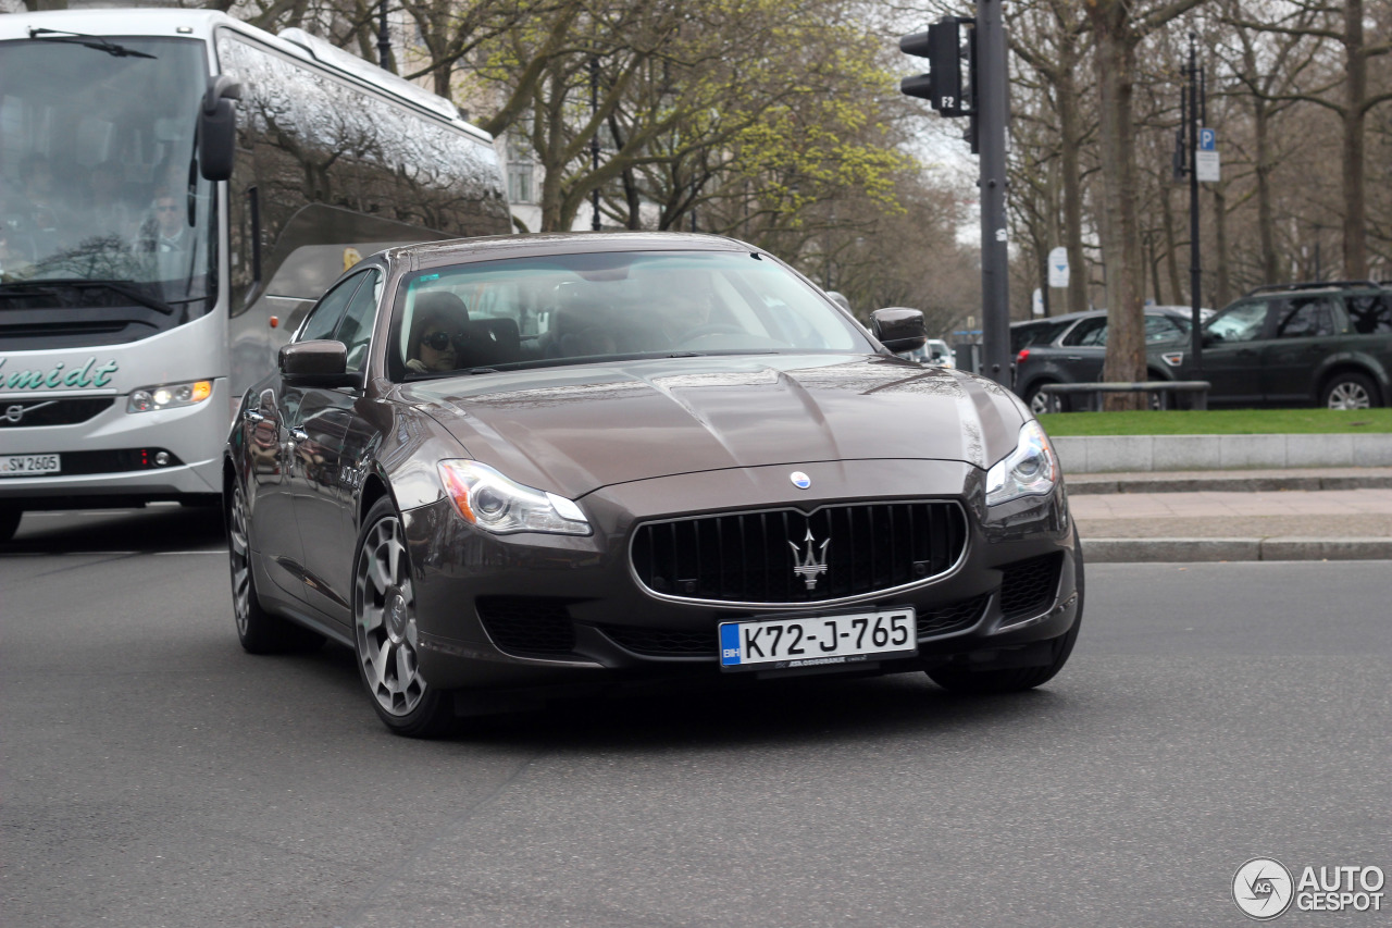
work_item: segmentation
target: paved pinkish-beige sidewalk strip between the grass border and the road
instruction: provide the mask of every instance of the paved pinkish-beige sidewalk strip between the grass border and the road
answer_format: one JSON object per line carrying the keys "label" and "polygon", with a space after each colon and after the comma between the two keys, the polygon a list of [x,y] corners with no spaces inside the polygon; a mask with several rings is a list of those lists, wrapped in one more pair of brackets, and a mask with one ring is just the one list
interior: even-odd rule
{"label": "paved pinkish-beige sidewalk strip between the grass border and the road", "polygon": [[1090,563],[1392,560],[1392,468],[1065,477]]}

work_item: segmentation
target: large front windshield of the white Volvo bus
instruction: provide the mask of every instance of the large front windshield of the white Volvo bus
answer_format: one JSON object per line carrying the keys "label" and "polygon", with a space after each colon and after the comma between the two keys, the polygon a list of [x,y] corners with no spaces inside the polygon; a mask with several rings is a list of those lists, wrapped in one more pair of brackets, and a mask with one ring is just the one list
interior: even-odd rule
{"label": "large front windshield of the white Volvo bus", "polygon": [[0,309],[157,309],[216,295],[195,128],[202,42],[32,31],[0,43]]}

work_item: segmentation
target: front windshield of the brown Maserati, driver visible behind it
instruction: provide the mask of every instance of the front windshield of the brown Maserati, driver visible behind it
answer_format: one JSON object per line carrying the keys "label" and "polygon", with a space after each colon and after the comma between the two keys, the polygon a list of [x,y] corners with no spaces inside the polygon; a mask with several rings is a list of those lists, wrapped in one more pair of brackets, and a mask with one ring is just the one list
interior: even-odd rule
{"label": "front windshield of the brown Maserati, driver visible behind it", "polygon": [[398,375],[632,357],[874,351],[786,268],[749,252],[606,252],[416,274],[398,302]]}

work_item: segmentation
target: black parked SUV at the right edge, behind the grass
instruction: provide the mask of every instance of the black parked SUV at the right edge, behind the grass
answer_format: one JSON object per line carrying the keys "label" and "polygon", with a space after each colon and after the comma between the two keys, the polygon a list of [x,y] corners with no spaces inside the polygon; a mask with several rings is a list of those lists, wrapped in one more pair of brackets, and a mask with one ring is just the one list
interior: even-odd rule
{"label": "black parked SUV at the right edge, behind the grass", "polygon": [[1187,344],[1154,346],[1153,378],[1204,379],[1210,405],[1360,410],[1392,399],[1392,290],[1371,281],[1258,287],[1204,323],[1203,376]]}

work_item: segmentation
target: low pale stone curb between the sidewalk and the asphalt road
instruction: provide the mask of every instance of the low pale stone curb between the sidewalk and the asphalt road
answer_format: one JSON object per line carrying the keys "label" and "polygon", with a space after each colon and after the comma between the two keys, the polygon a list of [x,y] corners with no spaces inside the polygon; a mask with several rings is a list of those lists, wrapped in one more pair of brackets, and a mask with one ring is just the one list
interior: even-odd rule
{"label": "low pale stone curb between the sidewalk and the asphalt road", "polygon": [[1392,538],[1084,538],[1091,564],[1392,560]]}

